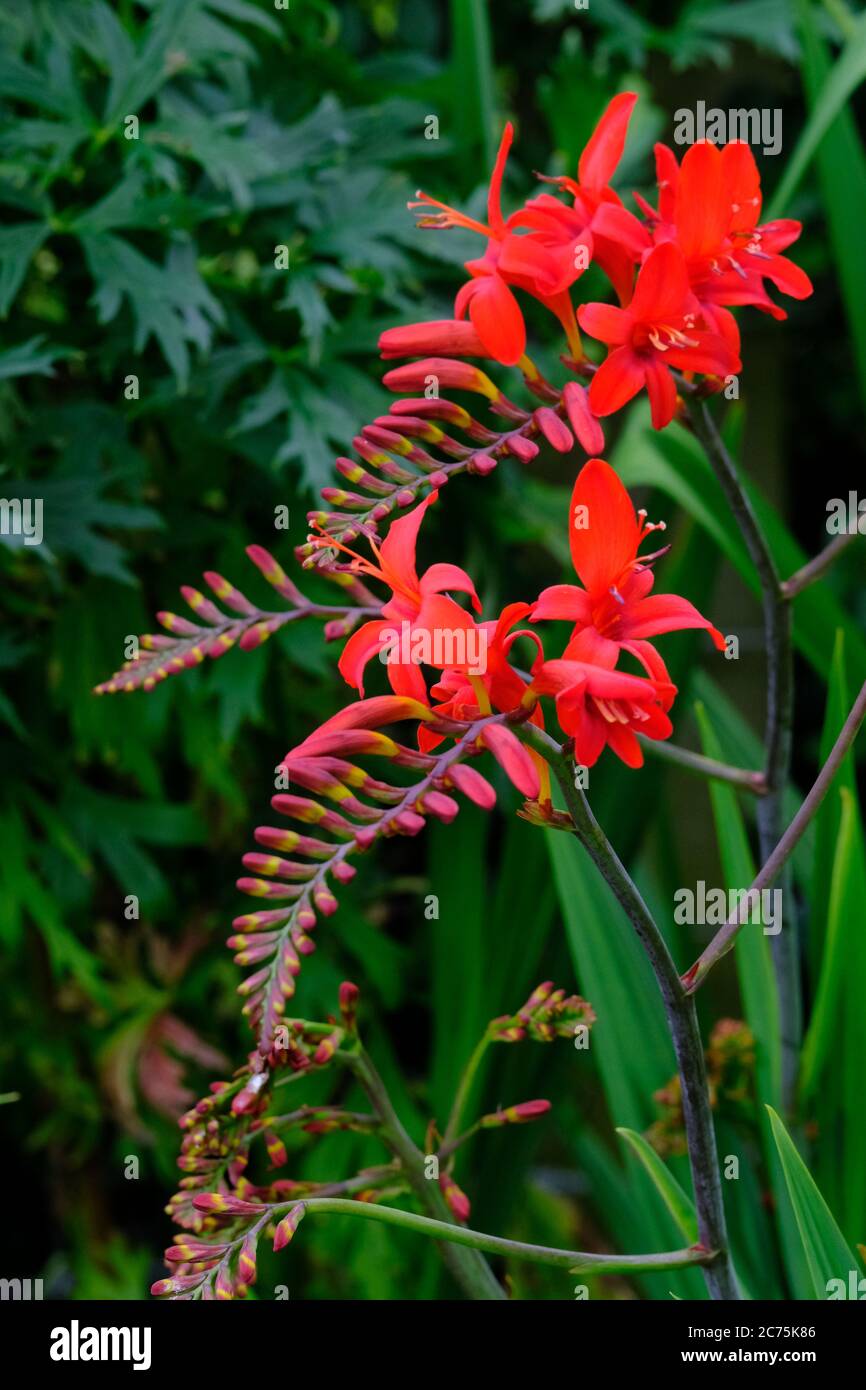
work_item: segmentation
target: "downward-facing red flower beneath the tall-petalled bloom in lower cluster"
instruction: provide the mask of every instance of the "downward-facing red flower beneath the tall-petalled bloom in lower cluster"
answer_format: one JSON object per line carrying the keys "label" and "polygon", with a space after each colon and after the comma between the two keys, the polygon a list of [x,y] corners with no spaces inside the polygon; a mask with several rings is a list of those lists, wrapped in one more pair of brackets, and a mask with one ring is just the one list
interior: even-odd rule
{"label": "downward-facing red flower beneath the tall-petalled bloom in lower cluster", "polygon": [[574,756],[584,767],[592,767],[606,746],[628,767],[641,767],[644,753],[635,735],[670,738],[667,710],[676,687],[588,662],[580,641],[570,642],[560,659],[539,662],[531,689],[556,696],[560,727],[574,738]]}

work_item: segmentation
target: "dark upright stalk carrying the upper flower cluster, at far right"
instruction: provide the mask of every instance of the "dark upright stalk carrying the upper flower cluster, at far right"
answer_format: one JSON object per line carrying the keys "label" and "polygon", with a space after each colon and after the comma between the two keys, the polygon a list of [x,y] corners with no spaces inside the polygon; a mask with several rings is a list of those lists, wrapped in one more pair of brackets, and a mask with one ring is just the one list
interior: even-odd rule
{"label": "dark upright stalk carrying the upper flower cluster, at far right", "polygon": [[[766,795],[758,803],[758,838],[765,865],[778,844],[783,826],[783,795],[791,773],[791,737],[794,724],[794,648],[791,605],[760,523],[740,480],[737,464],[727,452],[716,423],[705,404],[687,414],[687,421],[703,445],[728,506],[745,541],[760,582],[765,645],[767,651],[767,710],[765,724]],[[790,884],[783,890],[783,903],[792,902]],[[784,909],[783,909],[784,910]],[[778,992],[781,1091],[785,1111],[791,1111],[796,1088],[796,1068],[802,1041],[802,994],[796,917],[771,938],[773,973]]]}

